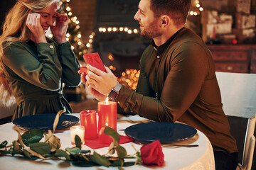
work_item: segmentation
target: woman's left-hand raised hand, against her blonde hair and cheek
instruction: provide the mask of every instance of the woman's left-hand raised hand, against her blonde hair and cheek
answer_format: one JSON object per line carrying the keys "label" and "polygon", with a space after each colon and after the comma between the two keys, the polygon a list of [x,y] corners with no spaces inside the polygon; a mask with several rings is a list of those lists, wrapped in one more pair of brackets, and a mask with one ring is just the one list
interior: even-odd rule
{"label": "woman's left-hand raised hand, against her blonde hair and cheek", "polygon": [[40,18],[41,15],[39,13],[29,13],[26,19],[26,26],[33,34],[31,39],[35,39],[36,43],[47,42],[46,33],[41,26]]}

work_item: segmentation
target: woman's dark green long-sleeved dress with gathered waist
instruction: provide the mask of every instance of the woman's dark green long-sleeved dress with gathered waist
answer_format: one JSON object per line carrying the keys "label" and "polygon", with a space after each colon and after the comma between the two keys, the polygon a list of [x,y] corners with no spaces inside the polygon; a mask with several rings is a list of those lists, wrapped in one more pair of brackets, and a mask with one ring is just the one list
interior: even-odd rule
{"label": "woman's dark green long-sleeved dress with gathered waist", "polygon": [[4,77],[16,98],[12,120],[24,115],[72,113],[63,96],[65,86],[78,86],[79,64],[69,42],[13,42],[4,50]]}

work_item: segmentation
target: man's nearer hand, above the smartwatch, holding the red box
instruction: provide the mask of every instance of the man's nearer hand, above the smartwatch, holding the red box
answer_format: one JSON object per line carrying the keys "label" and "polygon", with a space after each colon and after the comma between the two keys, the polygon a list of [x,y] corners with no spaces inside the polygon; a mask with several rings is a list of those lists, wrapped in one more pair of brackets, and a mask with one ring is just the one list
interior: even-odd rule
{"label": "man's nearer hand, above the smartwatch, holding the red box", "polygon": [[91,65],[87,64],[87,76],[86,83],[91,86],[96,91],[100,92],[107,96],[110,94],[110,91],[118,84],[117,77],[110,71],[108,67],[105,67],[107,70],[106,72],[102,72],[100,69],[92,67]]}

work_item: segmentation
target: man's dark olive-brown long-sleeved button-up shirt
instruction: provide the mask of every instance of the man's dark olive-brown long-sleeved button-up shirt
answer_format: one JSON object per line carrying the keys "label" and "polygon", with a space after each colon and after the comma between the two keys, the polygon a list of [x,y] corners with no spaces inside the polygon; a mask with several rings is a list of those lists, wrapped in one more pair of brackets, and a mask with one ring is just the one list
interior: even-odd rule
{"label": "man's dark olive-brown long-sleeved button-up shirt", "polygon": [[238,152],[223,113],[213,58],[203,40],[182,28],[164,45],[149,45],[140,60],[137,91],[122,86],[125,112],[155,121],[176,120],[197,128],[213,149]]}

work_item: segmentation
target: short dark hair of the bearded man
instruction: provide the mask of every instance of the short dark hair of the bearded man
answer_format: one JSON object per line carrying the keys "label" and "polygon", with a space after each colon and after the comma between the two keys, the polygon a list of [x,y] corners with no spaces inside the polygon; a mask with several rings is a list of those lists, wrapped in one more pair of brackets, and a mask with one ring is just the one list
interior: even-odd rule
{"label": "short dark hair of the bearded man", "polygon": [[151,0],[154,16],[168,15],[176,26],[186,23],[190,6],[191,0]]}

